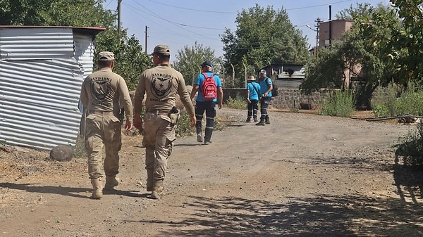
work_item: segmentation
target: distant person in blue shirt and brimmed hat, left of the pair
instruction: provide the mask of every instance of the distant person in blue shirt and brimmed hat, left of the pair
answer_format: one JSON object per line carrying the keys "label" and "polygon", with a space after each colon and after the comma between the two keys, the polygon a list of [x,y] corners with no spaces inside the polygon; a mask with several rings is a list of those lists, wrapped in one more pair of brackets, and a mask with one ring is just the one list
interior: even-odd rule
{"label": "distant person in blue shirt and brimmed hat, left of the pair", "polygon": [[259,98],[260,84],[255,82],[255,77],[250,76],[247,79],[247,120],[245,122],[251,122],[251,118],[254,122],[257,122],[257,113],[259,110]]}

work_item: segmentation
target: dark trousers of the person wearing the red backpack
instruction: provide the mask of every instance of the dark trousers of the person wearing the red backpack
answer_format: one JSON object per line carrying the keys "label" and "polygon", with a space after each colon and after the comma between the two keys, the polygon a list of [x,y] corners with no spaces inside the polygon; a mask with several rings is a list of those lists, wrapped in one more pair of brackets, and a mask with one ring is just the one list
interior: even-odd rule
{"label": "dark trousers of the person wearing the red backpack", "polygon": [[204,142],[212,139],[214,128],[214,117],[216,117],[216,102],[214,101],[197,101],[195,103],[195,129],[197,134],[202,133],[202,119],[204,112],[206,113],[206,127],[204,129]]}

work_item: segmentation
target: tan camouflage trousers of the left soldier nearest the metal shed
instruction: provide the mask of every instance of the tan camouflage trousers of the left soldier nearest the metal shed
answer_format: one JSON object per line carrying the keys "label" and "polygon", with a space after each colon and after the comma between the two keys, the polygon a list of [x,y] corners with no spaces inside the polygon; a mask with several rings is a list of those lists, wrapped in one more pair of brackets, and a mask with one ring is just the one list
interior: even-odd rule
{"label": "tan camouflage trousers of the left soldier nearest the metal shed", "polygon": [[[106,153],[102,159],[103,147]],[[91,179],[113,176],[119,172],[119,150],[122,147],[121,122],[114,115],[93,115],[85,118],[85,150]]]}

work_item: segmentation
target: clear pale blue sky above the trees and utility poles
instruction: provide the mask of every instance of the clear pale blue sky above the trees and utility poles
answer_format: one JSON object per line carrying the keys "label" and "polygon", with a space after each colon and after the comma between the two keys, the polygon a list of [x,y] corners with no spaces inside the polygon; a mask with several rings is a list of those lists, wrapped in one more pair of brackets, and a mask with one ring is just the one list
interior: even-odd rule
{"label": "clear pale blue sky above the trees and utility poles", "polygon": [[[185,46],[191,48],[197,41],[219,57],[223,56],[220,35],[226,28],[235,32],[237,13],[255,4],[286,9],[290,22],[302,31],[312,47],[316,45],[316,20],[329,20],[329,6],[333,20],[338,12],[357,3],[390,5],[389,0],[122,0],[121,24],[129,36],[140,40],[143,50],[147,44],[147,53],[152,53],[157,44],[166,44],[171,49],[171,60],[175,60],[178,51]],[[104,8],[116,11],[117,5],[118,0],[107,0]]]}

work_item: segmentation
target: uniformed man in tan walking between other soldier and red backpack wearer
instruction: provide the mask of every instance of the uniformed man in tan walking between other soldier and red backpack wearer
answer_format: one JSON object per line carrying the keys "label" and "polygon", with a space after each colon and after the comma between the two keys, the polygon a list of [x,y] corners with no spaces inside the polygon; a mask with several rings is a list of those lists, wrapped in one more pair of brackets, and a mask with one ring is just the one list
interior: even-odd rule
{"label": "uniformed man in tan walking between other soldier and red backpack wearer", "polygon": [[[185,109],[190,115],[190,124],[195,125],[195,113],[190,94],[185,86],[183,75],[171,68],[170,49],[166,45],[157,45],[151,54],[154,68],[142,72],[135,91],[134,126],[142,130],[144,123],[145,169],[147,169],[147,191],[151,198],[159,199],[163,195],[163,182],[166,174],[168,157],[172,153],[175,141],[179,111],[176,108],[176,94],[180,96]],[[142,100],[145,101],[144,121],[141,119]]]}

